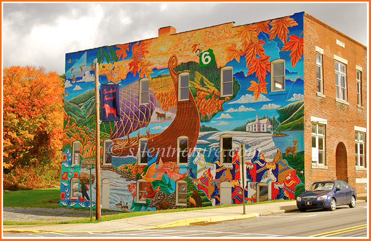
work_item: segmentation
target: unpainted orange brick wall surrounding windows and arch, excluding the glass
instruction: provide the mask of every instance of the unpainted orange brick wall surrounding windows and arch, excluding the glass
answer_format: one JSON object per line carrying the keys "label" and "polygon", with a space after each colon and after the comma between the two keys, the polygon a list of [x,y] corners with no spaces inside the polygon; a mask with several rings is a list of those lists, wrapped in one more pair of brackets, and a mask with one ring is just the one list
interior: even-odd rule
{"label": "unpainted orange brick wall surrounding windows and arch, excluding the glass", "polygon": [[[345,48],[337,44],[337,39]],[[323,96],[316,94],[316,46],[323,49]],[[336,101],[335,59],[347,60],[348,103]],[[362,68],[362,107],[357,107],[356,65]],[[311,116],[327,119],[325,169],[313,168],[311,162]],[[343,179],[366,192],[366,170],[355,168],[354,126],[367,128],[367,49],[350,37],[304,14],[304,151],[305,186],[313,181]],[[367,146],[367,143],[366,143]],[[367,149],[365,151],[367,155]],[[366,156],[365,156],[366,157]],[[367,158],[365,158],[367,159]],[[366,164],[367,165],[367,164]]]}

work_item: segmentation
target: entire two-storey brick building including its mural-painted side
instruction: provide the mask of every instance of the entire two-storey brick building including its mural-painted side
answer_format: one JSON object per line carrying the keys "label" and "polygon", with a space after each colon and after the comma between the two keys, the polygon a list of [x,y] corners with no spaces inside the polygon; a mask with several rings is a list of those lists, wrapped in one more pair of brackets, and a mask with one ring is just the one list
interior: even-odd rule
{"label": "entire two-storey brick building including its mural-painted side", "polygon": [[[95,164],[96,71],[115,85],[120,110],[101,109],[117,117],[100,124],[104,209],[295,199],[324,179],[366,192],[367,48],[305,12],[163,27],[151,39],[68,53],[65,63],[61,206],[95,205],[86,167]],[[254,122],[263,125],[249,129]]]}

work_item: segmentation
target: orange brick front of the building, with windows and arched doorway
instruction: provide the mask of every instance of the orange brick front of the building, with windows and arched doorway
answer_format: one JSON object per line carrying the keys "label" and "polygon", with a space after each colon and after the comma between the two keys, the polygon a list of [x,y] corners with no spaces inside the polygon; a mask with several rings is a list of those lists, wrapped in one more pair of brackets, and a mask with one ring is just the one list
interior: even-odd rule
{"label": "orange brick front of the building, with windows and arched doorway", "polygon": [[[366,192],[367,48],[306,13],[304,36],[306,185],[337,178],[349,182],[357,192]],[[321,84],[316,85],[315,79]],[[312,132],[312,125],[324,129],[320,165],[313,162],[311,136],[321,134]]]}

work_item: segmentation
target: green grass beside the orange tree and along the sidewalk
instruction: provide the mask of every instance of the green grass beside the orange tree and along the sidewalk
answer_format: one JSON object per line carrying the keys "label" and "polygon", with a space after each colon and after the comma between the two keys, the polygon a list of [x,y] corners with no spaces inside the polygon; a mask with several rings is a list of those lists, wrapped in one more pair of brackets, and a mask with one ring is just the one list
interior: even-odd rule
{"label": "green grass beside the orange tree and along the sidewalk", "polygon": [[[4,207],[21,207],[21,208],[65,208],[65,209],[75,209],[59,206],[59,188],[45,188],[45,189],[35,189],[35,190],[21,190],[21,191],[3,191],[3,206]],[[275,203],[275,202],[285,202],[286,200],[271,200],[264,203]],[[246,204],[254,205],[254,204]],[[215,206],[215,207],[201,207],[201,208],[184,208],[184,209],[170,209],[170,210],[160,210],[160,211],[148,211],[148,212],[124,212],[120,214],[110,214],[110,212],[116,212],[112,210],[102,210],[101,220],[95,220],[95,210],[93,211],[93,219],[90,218],[77,219],[72,221],[64,222],[15,222],[15,221],[3,221],[3,225],[24,225],[24,224],[60,224],[60,223],[96,223],[104,222],[116,219],[138,217],[156,213],[174,213],[174,212],[184,212],[192,210],[205,210],[205,209],[217,209],[226,207],[242,206],[242,204],[231,204],[225,206]]]}

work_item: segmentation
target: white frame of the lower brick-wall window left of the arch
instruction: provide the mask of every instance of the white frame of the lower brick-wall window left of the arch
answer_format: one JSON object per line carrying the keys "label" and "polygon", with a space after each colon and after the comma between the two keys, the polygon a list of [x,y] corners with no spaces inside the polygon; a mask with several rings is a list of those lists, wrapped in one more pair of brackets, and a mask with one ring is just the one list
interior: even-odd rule
{"label": "white frame of the lower brick-wall window left of the arch", "polygon": [[[315,132],[313,132],[315,126]],[[318,133],[318,127],[322,127],[322,133]],[[314,138],[314,139],[313,139]],[[322,149],[319,149],[319,140],[322,139]],[[313,140],[315,140],[315,147],[313,147]],[[311,132],[312,142],[312,165],[326,165],[326,125],[317,122],[312,122]],[[319,160],[319,153],[322,153],[322,160]]]}

